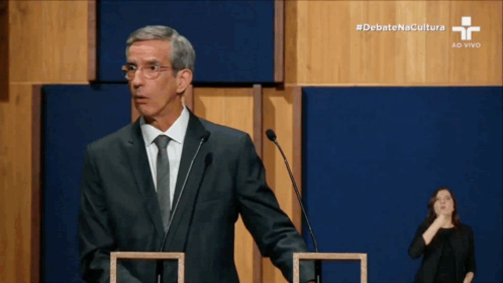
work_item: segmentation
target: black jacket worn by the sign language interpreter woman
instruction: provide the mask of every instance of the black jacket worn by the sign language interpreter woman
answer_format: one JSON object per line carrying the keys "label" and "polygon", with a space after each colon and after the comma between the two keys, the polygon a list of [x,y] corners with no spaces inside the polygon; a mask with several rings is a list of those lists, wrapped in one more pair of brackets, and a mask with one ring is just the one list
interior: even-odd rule
{"label": "black jacket worn by the sign language interpreter woman", "polygon": [[[435,235],[430,244],[426,245],[423,233],[428,227],[430,224],[424,222],[417,228],[408,249],[410,257],[414,259],[424,254],[421,267],[415,275],[415,282],[433,282],[442,254],[442,240],[438,235]],[[456,259],[456,280],[461,282],[466,273],[470,271],[475,273],[476,270],[473,231],[470,226],[464,224],[455,229],[449,241]]]}

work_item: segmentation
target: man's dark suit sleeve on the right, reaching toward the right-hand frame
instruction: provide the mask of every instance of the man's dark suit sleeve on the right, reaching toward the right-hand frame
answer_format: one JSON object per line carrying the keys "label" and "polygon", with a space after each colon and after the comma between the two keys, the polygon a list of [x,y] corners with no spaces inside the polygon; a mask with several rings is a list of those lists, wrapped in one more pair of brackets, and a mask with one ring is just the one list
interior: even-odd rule
{"label": "man's dark suit sleeve on the right, reaching toward the right-hand frame", "polygon": [[[305,243],[267,186],[262,161],[249,135],[241,139],[236,184],[239,212],[262,255],[270,257],[283,276],[293,280],[293,252],[305,252]],[[301,261],[301,281],[314,279],[312,261]]]}

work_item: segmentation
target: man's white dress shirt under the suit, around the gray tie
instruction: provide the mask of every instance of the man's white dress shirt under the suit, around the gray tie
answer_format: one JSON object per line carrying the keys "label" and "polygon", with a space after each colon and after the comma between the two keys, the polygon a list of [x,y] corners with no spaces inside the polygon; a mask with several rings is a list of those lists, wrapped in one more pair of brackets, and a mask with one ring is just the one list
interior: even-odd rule
{"label": "man's white dress shirt under the suit, around the gray tie", "polygon": [[173,206],[173,196],[175,195],[175,186],[177,185],[178,169],[180,167],[180,159],[182,158],[182,149],[184,145],[185,133],[189,125],[189,111],[184,105],[184,109],[180,117],[166,131],[161,131],[158,128],[147,124],[143,117],[140,118],[140,128],[145,142],[147,151],[148,163],[150,164],[150,172],[154,181],[155,191],[157,191],[157,146],[154,144],[154,139],[159,134],[167,135],[171,138],[167,144],[167,156],[170,160],[170,201]]}

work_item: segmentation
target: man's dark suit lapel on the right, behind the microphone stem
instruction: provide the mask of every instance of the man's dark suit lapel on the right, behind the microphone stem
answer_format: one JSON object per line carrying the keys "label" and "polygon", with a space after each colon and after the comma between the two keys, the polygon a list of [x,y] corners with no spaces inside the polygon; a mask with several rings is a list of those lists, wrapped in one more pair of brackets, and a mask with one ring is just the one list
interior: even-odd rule
{"label": "man's dark suit lapel on the right, behind the microphone stem", "polygon": [[[182,150],[182,158],[180,160],[180,167],[178,170],[175,195],[173,197],[173,209],[175,209],[175,204],[179,198],[180,201],[176,211],[174,211],[171,227],[168,231],[166,238],[166,250],[182,250],[185,245],[186,235],[190,228],[192,207],[194,206],[201,178],[203,177],[205,170],[205,158],[208,154],[208,150],[204,144],[201,146],[201,149],[194,160],[194,164],[189,172],[187,183],[183,192],[182,187],[191,161],[194,158],[197,148],[201,142],[201,137],[204,134],[204,131],[205,128],[199,118],[190,113],[189,124],[187,126]],[[172,244],[175,236],[177,237],[177,241]]]}

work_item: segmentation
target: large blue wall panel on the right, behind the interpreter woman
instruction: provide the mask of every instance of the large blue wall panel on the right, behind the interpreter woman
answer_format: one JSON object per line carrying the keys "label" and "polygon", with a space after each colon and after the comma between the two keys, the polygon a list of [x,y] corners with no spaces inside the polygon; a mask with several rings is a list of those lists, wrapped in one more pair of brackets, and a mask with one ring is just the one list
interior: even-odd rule
{"label": "large blue wall panel on the right, behind the interpreter woman", "polygon": [[[411,282],[421,260],[407,249],[430,195],[448,186],[474,231],[475,282],[503,281],[501,96],[501,87],[304,88],[303,195],[320,250],[368,253],[369,282]],[[326,282],[359,281],[351,262],[323,268]]]}

